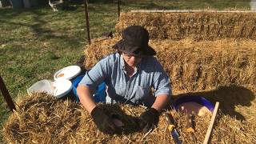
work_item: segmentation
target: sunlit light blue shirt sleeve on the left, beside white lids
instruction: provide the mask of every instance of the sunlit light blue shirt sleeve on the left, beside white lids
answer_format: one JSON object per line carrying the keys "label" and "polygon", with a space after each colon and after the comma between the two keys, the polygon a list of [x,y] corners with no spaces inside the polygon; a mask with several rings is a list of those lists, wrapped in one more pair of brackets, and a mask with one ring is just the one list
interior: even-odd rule
{"label": "sunlit light blue shirt sleeve on the left, beside white lids", "polygon": [[79,85],[88,86],[94,92],[106,78],[107,66],[109,66],[108,59],[108,57],[103,58],[91,70],[86,71]]}

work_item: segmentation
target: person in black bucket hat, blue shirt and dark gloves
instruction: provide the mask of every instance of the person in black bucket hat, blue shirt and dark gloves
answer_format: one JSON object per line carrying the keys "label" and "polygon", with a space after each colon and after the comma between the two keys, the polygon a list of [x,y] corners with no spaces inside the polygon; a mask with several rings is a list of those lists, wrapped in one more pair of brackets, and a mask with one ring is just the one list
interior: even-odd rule
{"label": "person in black bucket hat, blue shirt and dark gloves", "polygon": [[82,106],[91,114],[98,129],[106,134],[114,134],[117,127],[110,115],[94,102],[94,91],[102,82],[107,86],[106,103],[148,107],[138,118],[143,132],[157,125],[162,108],[170,101],[170,79],[154,58],[156,52],[148,42],[149,33],[145,28],[128,26],[122,31],[122,40],[113,46],[118,52],[102,58],[78,84]]}

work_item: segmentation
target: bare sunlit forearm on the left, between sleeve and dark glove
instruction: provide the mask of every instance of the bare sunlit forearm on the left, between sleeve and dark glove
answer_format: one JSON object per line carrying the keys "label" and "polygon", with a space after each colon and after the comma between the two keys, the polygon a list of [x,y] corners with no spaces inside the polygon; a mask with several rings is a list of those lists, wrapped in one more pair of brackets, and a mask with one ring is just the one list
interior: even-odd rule
{"label": "bare sunlit forearm on the left, between sleeve and dark glove", "polygon": [[90,113],[97,106],[87,86],[78,85],[78,97],[82,106]]}

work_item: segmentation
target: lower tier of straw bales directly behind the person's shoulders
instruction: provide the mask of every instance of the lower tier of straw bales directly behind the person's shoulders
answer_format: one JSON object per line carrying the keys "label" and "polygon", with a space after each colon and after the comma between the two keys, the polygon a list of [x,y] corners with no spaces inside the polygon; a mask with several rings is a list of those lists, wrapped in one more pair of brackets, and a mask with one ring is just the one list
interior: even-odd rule
{"label": "lower tier of straw bales directly behind the person's shoulders", "polygon": [[[105,55],[120,36],[94,41],[86,46],[86,68],[90,69]],[[219,86],[244,86],[256,92],[256,42],[225,38],[194,41],[191,38],[150,40],[156,58],[170,76],[174,94],[213,90]]]}

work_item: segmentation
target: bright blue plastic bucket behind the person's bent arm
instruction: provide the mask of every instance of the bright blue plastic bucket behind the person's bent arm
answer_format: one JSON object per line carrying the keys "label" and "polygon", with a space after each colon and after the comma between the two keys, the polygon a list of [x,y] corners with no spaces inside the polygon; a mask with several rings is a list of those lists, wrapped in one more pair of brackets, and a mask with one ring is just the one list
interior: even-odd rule
{"label": "bright blue plastic bucket behind the person's bent arm", "polygon": [[[77,94],[77,87],[78,83],[81,82],[82,78],[85,75],[80,75],[78,78],[75,78],[72,84],[72,90],[77,98],[77,101],[79,102],[78,94]],[[94,102],[106,102],[106,84],[105,82],[102,82],[100,85],[98,85],[97,90],[94,94]]]}

